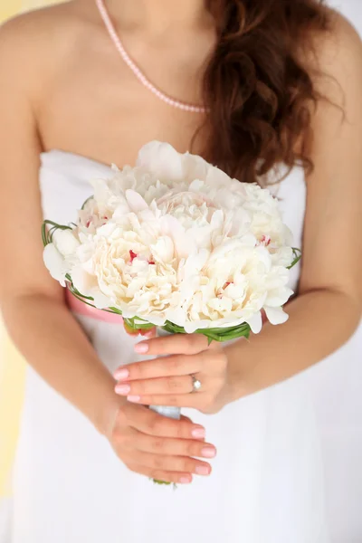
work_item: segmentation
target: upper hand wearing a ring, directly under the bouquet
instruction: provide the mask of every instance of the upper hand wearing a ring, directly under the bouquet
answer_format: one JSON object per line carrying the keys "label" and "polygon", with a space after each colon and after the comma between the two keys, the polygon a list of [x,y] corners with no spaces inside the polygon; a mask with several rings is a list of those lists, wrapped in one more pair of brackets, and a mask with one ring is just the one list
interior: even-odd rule
{"label": "upper hand wearing a ring, directly under the bouquet", "polygon": [[[212,414],[233,401],[228,359],[221,343],[200,334],[151,338],[135,346],[138,354],[157,356],[119,367],[116,393],[142,405],[193,407]],[[195,381],[201,387],[194,391]]]}

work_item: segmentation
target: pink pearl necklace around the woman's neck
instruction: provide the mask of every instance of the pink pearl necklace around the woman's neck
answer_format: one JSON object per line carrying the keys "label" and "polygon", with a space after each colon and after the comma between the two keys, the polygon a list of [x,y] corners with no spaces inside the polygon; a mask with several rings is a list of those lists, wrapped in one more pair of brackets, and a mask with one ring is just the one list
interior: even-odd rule
{"label": "pink pearl necklace around the woman's neck", "polygon": [[123,47],[123,44],[119,39],[119,35],[116,32],[114,24],[110,20],[110,14],[108,13],[106,6],[104,5],[104,0],[96,0],[96,4],[100,11],[100,16],[103,20],[103,23],[105,24],[108,33],[110,34],[110,39],[116,46],[116,49],[122,57],[123,61],[126,62],[126,64],[129,66],[129,69],[133,71],[138,81],[140,81],[142,85],[144,85],[148,90],[153,92],[153,94],[155,94],[155,96],[157,96],[159,100],[163,100],[173,108],[189,111],[191,113],[205,113],[206,110],[204,107],[195,106],[193,104],[186,104],[185,102],[175,100],[174,98],[167,96],[167,94],[162,92],[162,90],[157,89],[157,87],[155,87],[155,85],[153,85],[151,81],[148,81],[146,75],[138,68],[138,65],[132,61],[132,59],[129,57],[129,53]]}

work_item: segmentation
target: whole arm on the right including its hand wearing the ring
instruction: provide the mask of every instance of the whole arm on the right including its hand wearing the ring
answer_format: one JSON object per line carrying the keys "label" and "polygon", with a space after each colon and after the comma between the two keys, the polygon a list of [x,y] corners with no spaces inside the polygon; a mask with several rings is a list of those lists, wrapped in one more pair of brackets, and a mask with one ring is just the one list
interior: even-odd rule
{"label": "whole arm on the right including its hand wearing the ring", "polygon": [[[288,305],[290,319],[277,327],[266,324],[250,341],[226,348],[214,343],[207,348],[205,338],[196,335],[139,344],[149,355],[174,356],[128,367],[128,377],[125,368],[116,373],[119,380],[128,378],[132,401],[213,413],[319,362],[357,328],[362,310],[362,43],[338,18],[336,32],[319,52],[321,70],[330,76],[319,82],[320,91],[330,103],[320,102],[313,118],[314,171],[307,180],[300,289]],[[195,395],[189,394],[192,373],[203,383]]]}

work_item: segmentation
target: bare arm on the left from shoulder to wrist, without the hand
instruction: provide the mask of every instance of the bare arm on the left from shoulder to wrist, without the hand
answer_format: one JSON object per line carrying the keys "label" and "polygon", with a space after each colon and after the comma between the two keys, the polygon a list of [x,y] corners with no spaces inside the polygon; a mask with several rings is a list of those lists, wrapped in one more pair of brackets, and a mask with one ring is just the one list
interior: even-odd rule
{"label": "bare arm on the left from shoulder to wrist, without the hand", "polygon": [[110,413],[119,405],[113,379],[64,306],[62,288],[43,266],[41,146],[33,112],[38,91],[34,72],[41,66],[35,52],[29,62],[17,31],[24,32],[23,24],[0,29],[1,310],[16,346],[34,369],[105,433]]}

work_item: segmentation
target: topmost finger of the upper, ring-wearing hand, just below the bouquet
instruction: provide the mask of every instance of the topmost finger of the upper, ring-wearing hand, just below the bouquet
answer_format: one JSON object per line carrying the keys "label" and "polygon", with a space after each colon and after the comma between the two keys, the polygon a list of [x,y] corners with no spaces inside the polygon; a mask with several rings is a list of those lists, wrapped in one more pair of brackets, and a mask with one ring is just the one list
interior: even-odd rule
{"label": "topmost finger of the upper, ring-wearing hand, just below the bouquet", "polygon": [[142,355],[196,355],[207,347],[207,338],[202,334],[174,334],[141,341],[135,351]]}

